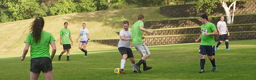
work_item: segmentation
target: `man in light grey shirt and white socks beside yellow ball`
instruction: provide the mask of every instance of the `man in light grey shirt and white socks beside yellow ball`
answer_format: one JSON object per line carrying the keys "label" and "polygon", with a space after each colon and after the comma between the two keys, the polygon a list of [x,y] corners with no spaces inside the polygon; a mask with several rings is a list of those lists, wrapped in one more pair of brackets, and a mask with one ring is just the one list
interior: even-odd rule
{"label": "man in light grey shirt and white socks beside yellow ball", "polygon": [[118,50],[122,55],[122,60],[121,60],[121,65],[120,65],[120,73],[125,73],[124,72],[124,64],[126,62],[126,59],[129,58],[131,61],[131,65],[132,65],[132,69],[134,73],[138,73],[136,71],[136,68],[134,67],[135,65],[135,61],[134,61],[134,57],[133,57],[133,53],[130,47],[130,43],[131,43],[131,32],[129,29],[129,22],[128,21],[124,21],[123,22],[123,28],[120,32],[119,32],[119,42],[118,42]]}

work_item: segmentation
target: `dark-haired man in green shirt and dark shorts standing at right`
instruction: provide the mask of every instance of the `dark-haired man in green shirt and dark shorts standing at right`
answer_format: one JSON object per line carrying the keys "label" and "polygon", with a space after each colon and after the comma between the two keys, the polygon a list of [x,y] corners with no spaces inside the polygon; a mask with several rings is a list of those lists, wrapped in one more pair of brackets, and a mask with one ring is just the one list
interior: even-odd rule
{"label": "dark-haired man in green shirt and dark shorts standing at right", "polygon": [[216,64],[215,64],[215,59],[214,59],[214,55],[215,55],[215,50],[214,50],[214,35],[217,35],[217,29],[215,27],[215,25],[211,22],[208,21],[208,16],[206,14],[203,14],[201,16],[201,22],[203,23],[203,25],[201,25],[201,34],[198,37],[198,39],[196,40],[196,42],[198,42],[198,40],[201,39],[201,43],[200,43],[200,47],[199,47],[199,53],[200,53],[200,72],[199,73],[204,73],[204,66],[205,66],[205,55],[207,54],[208,59],[210,60],[210,62],[213,65],[212,71],[216,70]]}

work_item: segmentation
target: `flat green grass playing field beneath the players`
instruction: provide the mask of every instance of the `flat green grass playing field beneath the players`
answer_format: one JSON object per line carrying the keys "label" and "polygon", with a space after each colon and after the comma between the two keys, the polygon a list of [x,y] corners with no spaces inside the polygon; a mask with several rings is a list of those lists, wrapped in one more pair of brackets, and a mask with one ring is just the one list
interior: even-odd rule
{"label": "flat green grass playing field beneath the players", "polygon": [[[255,80],[256,77],[256,43],[255,40],[229,41],[225,50],[222,43],[215,51],[217,69],[211,72],[212,65],[208,59],[205,73],[198,73],[200,68],[200,43],[149,46],[152,55],[147,64],[153,68],[140,74],[132,72],[130,61],[126,61],[124,74],[114,74],[120,67],[122,59],[117,49],[90,51],[84,58],[82,52],[71,54],[71,61],[63,55],[58,61],[56,55],[52,61],[55,80]],[[216,43],[215,43],[216,44]],[[134,48],[135,62],[140,54]],[[57,53],[58,54],[58,53]],[[28,80],[30,57],[20,61],[19,57],[0,58],[1,80]],[[41,73],[39,80],[44,80]]]}

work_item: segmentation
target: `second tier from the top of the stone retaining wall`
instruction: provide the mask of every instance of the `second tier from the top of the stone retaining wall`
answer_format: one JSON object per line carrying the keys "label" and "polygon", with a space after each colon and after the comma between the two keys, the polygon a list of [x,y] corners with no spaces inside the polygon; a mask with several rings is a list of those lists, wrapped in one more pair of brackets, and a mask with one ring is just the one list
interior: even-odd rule
{"label": "second tier from the top of the stone retaining wall", "polygon": [[[220,17],[208,18],[208,20],[215,25],[220,21]],[[226,21],[226,19],[224,20]],[[256,23],[256,15],[241,15],[234,17],[234,24]],[[195,27],[201,26],[199,19],[180,19],[180,20],[163,20],[163,21],[147,21],[144,27],[148,29],[161,28],[177,28],[177,27]]]}

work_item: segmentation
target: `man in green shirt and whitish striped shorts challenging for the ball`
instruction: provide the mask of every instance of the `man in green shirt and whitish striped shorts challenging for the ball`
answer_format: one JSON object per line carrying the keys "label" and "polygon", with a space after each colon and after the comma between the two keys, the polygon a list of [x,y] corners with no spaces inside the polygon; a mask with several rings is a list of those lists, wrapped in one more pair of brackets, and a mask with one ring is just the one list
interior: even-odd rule
{"label": "man in green shirt and whitish striped shorts challenging for the ball", "polygon": [[137,69],[139,73],[140,71],[140,65],[143,63],[143,71],[147,71],[151,69],[152,67],[148,67],[146,64],[146,59],[150,56],[150,52],[148,50],[148,47],[144,44],[144,42],[141,40],[142,39],[142,32],[146,31],[149,33],[153,33],[153,31],[149,31],[144,28],[144,16],[140,14],[138,16],[138,21],[135,22],[132,26],[131,31],[131,42],[133,46],[136,48],[138,52],[141,53],[141,60],[134,65],[134,67]]}

